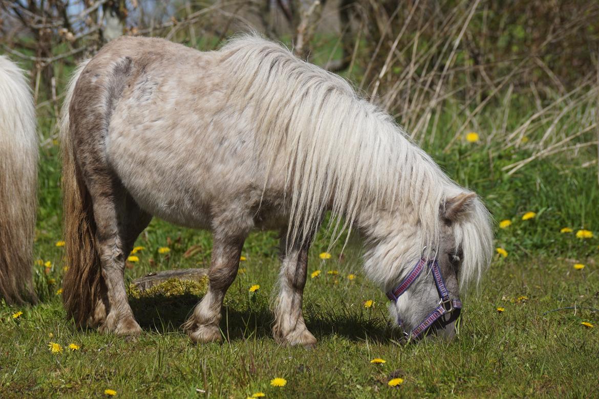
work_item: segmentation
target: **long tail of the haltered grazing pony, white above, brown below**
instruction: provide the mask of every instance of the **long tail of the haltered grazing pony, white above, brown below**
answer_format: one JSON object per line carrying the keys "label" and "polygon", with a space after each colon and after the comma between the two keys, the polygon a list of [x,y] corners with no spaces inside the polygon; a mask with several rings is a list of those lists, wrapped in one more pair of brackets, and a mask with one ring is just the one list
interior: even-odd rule
{"label": "long tail of the haltered grazing pony, white above, brown below", "polygon": [[96,224],[92,201],[75,160],[69,120],[75,85],[87,62],[89,60],[80,63],[75,70],[67,87],[60,116],[63,234],[67,268],[63,279],[62,301],[67,317],[73,318],[79,327],[92,327],[95,324],[93,313],[99,300],[101,285],[104,284],[95,242]]}

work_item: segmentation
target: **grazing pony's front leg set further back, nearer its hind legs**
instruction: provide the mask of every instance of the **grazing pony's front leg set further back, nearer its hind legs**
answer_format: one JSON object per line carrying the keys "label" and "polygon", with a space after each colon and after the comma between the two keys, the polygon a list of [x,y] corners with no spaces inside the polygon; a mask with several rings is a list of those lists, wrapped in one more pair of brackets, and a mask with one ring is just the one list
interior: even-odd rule
{"label": "grazing pony's front leg set further back, nearer its hind legs", "polygon": [[220,308],[226,290],[237,276],[239,258],[245,236],[219,238],[214,236],[208,292],[193,309],[193,315],[183,325],[195,343],[220,341]]}

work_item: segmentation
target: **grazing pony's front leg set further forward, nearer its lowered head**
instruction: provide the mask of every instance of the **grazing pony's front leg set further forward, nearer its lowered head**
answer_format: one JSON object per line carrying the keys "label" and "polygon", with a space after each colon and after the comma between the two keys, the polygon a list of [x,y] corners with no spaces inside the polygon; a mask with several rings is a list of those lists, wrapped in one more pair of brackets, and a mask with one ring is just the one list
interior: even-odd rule
{"label": "grazing pony's front leg set further forward, nearer its lowered head", "polygon": [[302,297],[308,267],[308,245],[285,250],[279,275],[279,297],[275,308],[274,339],[281,345],[303,345],[311,348],[316,338],[305,327]]}

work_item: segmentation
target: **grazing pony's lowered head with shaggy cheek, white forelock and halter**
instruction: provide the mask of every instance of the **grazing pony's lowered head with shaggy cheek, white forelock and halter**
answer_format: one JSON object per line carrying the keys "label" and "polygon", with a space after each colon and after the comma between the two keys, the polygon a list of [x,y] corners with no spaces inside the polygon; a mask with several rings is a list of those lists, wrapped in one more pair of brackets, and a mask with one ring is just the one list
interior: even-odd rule
{"label": "grazing pony's lowered head with shaggy cheek, white forelock and halter", "polygon": [[443,196],[435,207],[428,220],[413,212],[412,220],[397,221],[396,234],[376,240],[365,264],[391,300],[392,319],[412,339],[452,338],[461,291],[491,260],[491,218],[476,194]]}

